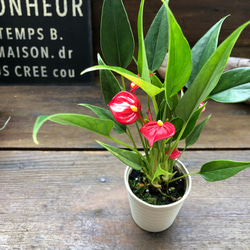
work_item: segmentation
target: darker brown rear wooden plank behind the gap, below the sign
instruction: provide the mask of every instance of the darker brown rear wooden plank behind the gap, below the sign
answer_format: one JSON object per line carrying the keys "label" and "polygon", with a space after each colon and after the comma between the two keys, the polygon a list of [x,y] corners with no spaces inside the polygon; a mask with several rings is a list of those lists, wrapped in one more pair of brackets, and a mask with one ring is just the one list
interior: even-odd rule
{"label": "darker brown rear wooden plank behind the gap, below the sign", "polygon": [[[146,111],[146,98],[137,92]],[[69,128],[51,122],[40,130],[36,146],[32,129],[38,115],[54,113],[84,113],[91,115],[79,103],[104,107],[99,86],[2,86],[0,102],[0,127],[11,116],[8,126],[0,132],[1,148],[96,148],[95,139],[112,143],[104,137],[79,128]],[[250,106],[245,103],[218,104],[208,102],[205,118],[212,113],[199,141],[193,148],[249,148]],[[133,128],[132,128],[133,130]],[[122,140],[130,143],[127,137]],[[136,138],[139,145],[139,138]],[[183,146],[183,144],[182,144]]]}

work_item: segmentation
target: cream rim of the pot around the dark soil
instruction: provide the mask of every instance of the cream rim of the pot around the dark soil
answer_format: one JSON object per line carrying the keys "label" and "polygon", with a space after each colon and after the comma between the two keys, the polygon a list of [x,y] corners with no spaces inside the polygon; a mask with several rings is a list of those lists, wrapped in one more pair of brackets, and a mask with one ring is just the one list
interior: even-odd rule
{"label": "cream rim of the pot around the dark soil", "polygon": [[[185,165],[183,164],[182,161],[177,159],[176,164],[177,164],[177,167],[180,168],[184,172],[183,174],[189,174],[189,171],[187,170],[187,168],[185,167]],[[185,199],[188,197],[190,191],[191,191],[192,179],[191,179],[191,176],[188,175],[188,176],[185,177],[185,179],[186,179],[186,191],[185,191],[184,195],[181,197],[180,200],[175,201],[175,202],[173,202],[171,204],[166,204],[166,205],[152,205],[152,204],[149,204],[149,203],[141,200],[140,198],[138,198],[132,192],[132,190],[131,190],[131,188],[129,186],[129,183],[128,183],[128,177],[129,177],[132,170],[133,170],[133,168],[131,168],[129,166],[127,166],[126,169],[125,169],[124,182],[125,182],[126,189],[129,192],[129,194],[133,196],[134,199],[136,199],[138,202],[143,203],[143,204],[145,204],[145,205],[147,205],[149,207],[153,207],[153,208],[156,208],[156,209],[162,209],[162,208],[165,208],[165,207],[174,207],[174,206],[184,202]]]}

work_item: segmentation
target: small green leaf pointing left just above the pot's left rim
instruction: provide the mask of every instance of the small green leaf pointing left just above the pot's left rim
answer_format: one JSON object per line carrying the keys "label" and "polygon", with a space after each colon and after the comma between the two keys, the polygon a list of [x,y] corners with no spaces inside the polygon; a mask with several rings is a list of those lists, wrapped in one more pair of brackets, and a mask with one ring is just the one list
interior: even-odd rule
{"label": "small green leaf pointing left just above the pot's left rim", "polygon": [[110,146],[100,141],[96,141],[101,146],[106,148],[111,154],[117,157],[121,162],[126,164],[127,166],[135,169],[140,170],[142,168],[143,162],[141,157],[133,151],[125,150]]}

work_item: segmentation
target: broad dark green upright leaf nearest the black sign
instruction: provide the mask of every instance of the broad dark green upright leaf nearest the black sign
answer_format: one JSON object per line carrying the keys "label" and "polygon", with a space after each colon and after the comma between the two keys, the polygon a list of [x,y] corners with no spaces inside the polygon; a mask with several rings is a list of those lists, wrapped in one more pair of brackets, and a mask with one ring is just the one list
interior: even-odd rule
{"label": "broad dark green upright leaf nearest the black sign", "polygon": [[134,54],[134,37],[121,0],[104,0],[100,43],[108,64],[126,68]]}

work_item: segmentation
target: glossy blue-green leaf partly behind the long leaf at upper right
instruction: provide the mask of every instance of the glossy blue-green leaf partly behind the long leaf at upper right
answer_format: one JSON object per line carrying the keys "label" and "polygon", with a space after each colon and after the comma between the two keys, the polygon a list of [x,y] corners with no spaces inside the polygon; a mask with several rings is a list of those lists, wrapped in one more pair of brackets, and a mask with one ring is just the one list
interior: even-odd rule
{"label": "glossy blue-green leaf partly behind the long leaf at upper right", "polygon": [[224,17],[217,22],[192,48],[191,54],[193,68],[186,87],[190,86],[198,72],[216,50],[221,25],[226,18],[227,17]]}

